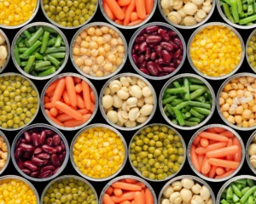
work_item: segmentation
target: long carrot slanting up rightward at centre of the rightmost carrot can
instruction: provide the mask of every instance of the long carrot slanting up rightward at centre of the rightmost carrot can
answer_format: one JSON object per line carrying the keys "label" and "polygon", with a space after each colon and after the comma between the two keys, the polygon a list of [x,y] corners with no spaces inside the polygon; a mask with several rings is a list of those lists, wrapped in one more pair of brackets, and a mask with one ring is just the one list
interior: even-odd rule
{"label": "long carrot slanting up rightward at centre of the rightmost carrot can", "polygon": [[223,156],[230,156],[236,154],[238,152],[239,148],[236,145],[227,146],[224,148],[220,148],[217,150],[210,150],[207,151],[207,158],[218,158]]}

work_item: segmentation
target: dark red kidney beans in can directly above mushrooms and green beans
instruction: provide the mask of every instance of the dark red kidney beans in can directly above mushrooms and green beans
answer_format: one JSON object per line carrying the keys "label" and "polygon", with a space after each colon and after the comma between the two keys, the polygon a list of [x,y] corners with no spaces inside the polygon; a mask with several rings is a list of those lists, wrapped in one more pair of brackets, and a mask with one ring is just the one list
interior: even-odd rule
{"label": "dark red kidney beans in can directly above mushrooms and green beans", "polygon": [[183,59],[183,43],[166,26],[148,26],[131,48],[132,59],[144,74],[161,77],[171,74]]}

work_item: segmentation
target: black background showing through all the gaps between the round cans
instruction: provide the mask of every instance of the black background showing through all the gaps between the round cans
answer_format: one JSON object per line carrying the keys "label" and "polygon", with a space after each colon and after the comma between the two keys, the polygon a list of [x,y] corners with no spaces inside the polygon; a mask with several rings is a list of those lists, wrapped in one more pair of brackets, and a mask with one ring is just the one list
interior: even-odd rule
{"label": "black background showing through all the gaps between the round cans", "polygon": [[[45,17],[44,14],[41,10],[41,8],[39,8],[38,10],[38,14],[36,15],[36,17],[32,20],[32,22],[40,22],[40,21],[44,21],[44,22],[49,22]],[[107,20],[105,20],[105,18],[102,15],[102,12],[100,10],[100,8],[97,9],[95,16],[93,17],[92,20],[90,20],[91,22],[96,22],[96,21],[103,21],[103,22],[108,22]],[[149,22],[154,22],[154,21],[161,21],[161,22],[166,22],[166,20],[163,19],[163,17],[160,14],[159,8],[156,8],[155,13],[152,17],[151,20],[149,20]],[[218,9],[215,8],[214,13],[212,14],[212,17],[207,21],[207,22],[224,22],[224,20],[221,18],[221,16],[218,14]],[[31,22],[31,23],[32,23]],[[0,26],[1,27],[1,26]],[[7,29],[3,29],[3,31],[6,33],[6,35],[9,37],[9,42],[12,43],[13,38],[15,37],[16,32],[18,32],[20,29],[15,29],[15,30],[7,30]],[[79,29],[73,29],[73,30],[64,30],[61,29],[64,34],[67,37],[68,42],[70,43],[73,35],[75,34],[76,31],[78,31]],[[239,31],[239,33],[241,34],[241,37],[243,38],[244,43],[247,42],[247,37],[249,37],[249,35],[251,34],[251,32],[253,31],[253,29],[250,30],[241,30],[241,29],[237,29]],[[124,30],[124,29],[120,29],[120,31],[124,34],[127,43],[130,42],[131,36],[132,34],[136,31],[136,29],[133,30]],[[193,31],[195,31],[195,29],[192,30],[182,30],[182,29],[178,29],[178,31],[181,32],[181,34],[184,37],[184,40],[186,42],[186,44],[189,41],[189,37],[191,36],[191,34],[193,33]],[[16,72],[19,73],[19,71],[15,68],[15,65],[12,61],[12,59],[9,60],[9,65],[5,68],[5,70],[3,71],[3,73],[6,72]],[[70,59],[68,59],[67,65],[66,67],[63,69],[62,72],[75,72],[78,73],[78,71],[76,71],[76,69],[73,67],[73,64],[71,62]],[[124,68],[119,72],[119,73],[124,73],[124,72],[133,72],[133,73],[137,73],[131,66],[131,63],[129,61],[129,59],[127,59]],[[251,68],[249,67],[249,65],[247,64],[247,60],[244,59],[243,64],[241,65],[241,68],[239,69],[238,72],[251,72],[253,73],[253,71],[251,70]],[[183,64],[183,67],[180,69],[180,71],[177,72],[177,74],[181,74],[181,73],[194,73],[195,71],[191,68],[191,66],[189,65],[189,61],[188,59],[185,60],[185,63]],[[162,80],[162,81],[154,81],[154,80],[149,80],[149,82],[152,83],[152,85],[155,88],[155,92],[157,94],[157,97],[159,97],[160,94],[160,90],[161,88],[164,86],[164,84],[166,83],[168,79],[166,80]],[[36,80],[32,80],[35,85],[38,88],[39,93],[42,92],[44,85],[46,84],[46,82],[48,82],[48,80],[44,80],[44,81],[36,81]],[[107,82],[107,80],[102,80],[102,81],[93,81],[90,80],[94,86],[96,87],[97,93],[100,94],[102,86],[105,82]],[[210,82],[210,84],[212,85],[212,88],[214,89],[215,94],[218,93],[218,88],[220,87],[220,85],[224,82],[224,80],[218,80],[218,81],[212,81],[212,80],[207,80],[208,82]],[[36,117],[36,119],[32,122],[32,123],[48,123],[43,114],[42,111],[40,110],[38,112],[38,116]],[[165,119],[161,116],[160,114],[160,110],[159,110],[159,106],[157,106],[157,110],[155,112],[155,115],[153,117],[153,119],[149,122],[149,123],[154,123],[154,122],[161,122],[161,123],[166,123]],[[92,123],[107,123],[105,121],[105,119],[102,117],[102,114],[100,112],[100,110],[98,109],[95,118],[92,120],[92,122],[90,122],[90,124]],[[207,124],[215,124],[215,123],[221,123],[224,124],[224,122],[222,121],[222,119],[220,118],[220,116],[218,116],[218,112],[215,110],[212,118],[210,119],[209,122],[207,122]],[[183,136],[183,139],[186,143],[186,145],[189,144],[189,139],[192,137],[192,135],[196,132],[196,130],[191,130],[191,131],[182,131],[182,130],[177,130],[179,133],[181,133],[181,135]],[[67,142],[70,145],[71,141],[74,137],[74,135],[76,133],[79,132],[79,130],[77,131],[62,131],[61,132],[66,136],[67,138]],[[131,137],[133,136],[133,134],[136,131],[120,131],[120,133],[123,134],[123,136],[125,137],[125,140],[127,142],[127,144],[130,143]],[[253,133],[253,131],[237,131],[240,136],[241,139],[243,139],[244,144],[247,144],[247,139],[250,137],[250,135]],[[7,138],[9,139],[9,143],[10,145],[13,142],[13,139],[15,139],[16,134],[18,133],[18,131],[3,131],[3,133],[5,133],[5,135],[7,136]],[[10,175],[10,174],[15,174],[15,175],[19,175],[20,174],[15,170],[15,167],[12,163],[12,161],[9,162],[9,166],[7,167],[7,169],[4,171],[3,175]],[[71,161],[68,161],[67,163],[67,167],[64,169],[64,171],[61,173],[61,175],[67,175],[67,174],[73,174],[73,175],[79,175],[74,169],[73,166],[71,164]],[[127,160],[125,168],[122,170],[121,173],[119,173],[118,176],[120,175],[127,175],[127,174],[133,174],[137,176],[137,173],[135,173],[133,171],[133,169],[131,168],[131,164],[129,162],[129,160]],[[177,176],[179,175],[195,175],[195,173],[192,171],[191,167],[189,167],[189,162],[186,160],[185,164],[183,166],[183,169],[177,174]],[[243,166],[241,167],[241,170],[239,171],[239,173],[237,173],[237,175],[242,175],[242,174],[249,174],[249,175],[253,175],[254,173],[251,171],[251,169],[248,167],[247,165],[247,161],[244,161]],[[3,176],[2,175],[2,176]],[[60,176],[61,176],[60,175]],[[196,176],[196,175],[195,175]],[[90,182],[90,184],[92,184],[96,191],[97,191],[97,195],[100,196],[102,189],[104,188],[104,186],[108,183],[108,181],[105,182]],[[154,188],[155,194],[159,195],[161,188],[166,184],[166,182],[150,182],[148,181],[149,184],[152,185],[152,187]],[[210,184],[210,186],[212,187],[212,190],[214,191],[215,196],[218,195],[218,190],[221,188],[221,186],[224,184],[224,182],[218,182],[218,183],[212,183],[212,182],[208,182],[208,184]],[[38,194],[39,196],[41,196],[44,187],[49,184],[48,182],[33,182],[32,184],[34,184],[34,186],[36,187],[36,189],[38,190]]]}

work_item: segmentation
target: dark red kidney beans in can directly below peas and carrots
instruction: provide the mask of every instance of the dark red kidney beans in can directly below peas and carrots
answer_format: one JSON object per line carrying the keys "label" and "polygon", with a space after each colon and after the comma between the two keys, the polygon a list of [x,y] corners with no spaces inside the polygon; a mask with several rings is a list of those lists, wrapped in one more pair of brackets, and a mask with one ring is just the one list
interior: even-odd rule
{"label": "dark red kidney beans in can directly below peas and carrots", "polygon": [[52,130],[35,127],[24,132],[15,144],[15,161],[33,178],[49,178],[65,160],[66,146]]}

